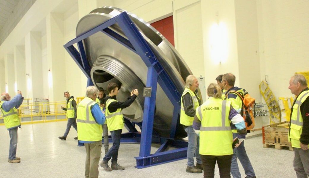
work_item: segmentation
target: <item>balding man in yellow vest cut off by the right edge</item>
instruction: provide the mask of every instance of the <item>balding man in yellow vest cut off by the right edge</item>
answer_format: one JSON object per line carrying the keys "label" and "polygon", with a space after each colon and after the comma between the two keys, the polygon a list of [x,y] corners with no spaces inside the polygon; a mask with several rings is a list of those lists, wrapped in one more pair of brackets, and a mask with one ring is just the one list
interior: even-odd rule
{"label": "balding man in yellow vest cut off by the right edge", "polygon": [[291,108],[289,142],[294,147],[294,170],[298,178],[309,176],[309,89],[301,74],[290,79],[289,89],[296,95]]}

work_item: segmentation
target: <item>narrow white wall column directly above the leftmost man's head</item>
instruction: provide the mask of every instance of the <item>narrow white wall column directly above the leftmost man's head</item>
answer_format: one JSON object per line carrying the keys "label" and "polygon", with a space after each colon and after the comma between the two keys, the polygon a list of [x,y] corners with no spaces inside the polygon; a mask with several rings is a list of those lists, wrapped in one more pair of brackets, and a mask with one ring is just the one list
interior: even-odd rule
{"label": "narrow white wall column directly above the leftmost man's head", "polygon": [[14,70],[14,55],[6,54],[4,56],[5,69],[5,90],[12,97],[15,96],[15,70]]}

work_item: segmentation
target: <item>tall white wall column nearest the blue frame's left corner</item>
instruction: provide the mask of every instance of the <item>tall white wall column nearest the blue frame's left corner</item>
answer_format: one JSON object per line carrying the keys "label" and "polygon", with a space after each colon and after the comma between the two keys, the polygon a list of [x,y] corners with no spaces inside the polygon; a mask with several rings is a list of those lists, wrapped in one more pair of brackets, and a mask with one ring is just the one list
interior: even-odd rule
{"label": "tall white wall column nearest the blue frame's left corner", "polygon": [[[49,101],[63,101],[66,91],[65,48],[63,14],[50,13],[46,16],[46,49],[48,64]],[[59,43],[60,42],[60,43]],[[45,71],[44,71],[45,72]]]}

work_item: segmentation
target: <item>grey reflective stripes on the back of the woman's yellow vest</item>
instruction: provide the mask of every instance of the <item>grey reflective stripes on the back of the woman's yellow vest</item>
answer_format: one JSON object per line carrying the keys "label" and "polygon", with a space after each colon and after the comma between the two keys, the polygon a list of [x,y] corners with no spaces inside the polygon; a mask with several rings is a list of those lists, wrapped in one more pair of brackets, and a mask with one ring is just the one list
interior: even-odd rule
{"label": "grey reflective stripes on the back of the woman's yellow vest", "polygon": [[[200,115],[201,121],[203,120],[203,115],[201,111],[201,106],[197,108],[198,114]],[[231,130],[231,126],[225,126],[225,114],[226,114],[226,100],[222,101],[222,112],[221,112],[221,122],[222,126],[217,127],[203,127],[201,126],[201,131],[222,131],[222,130]]]}

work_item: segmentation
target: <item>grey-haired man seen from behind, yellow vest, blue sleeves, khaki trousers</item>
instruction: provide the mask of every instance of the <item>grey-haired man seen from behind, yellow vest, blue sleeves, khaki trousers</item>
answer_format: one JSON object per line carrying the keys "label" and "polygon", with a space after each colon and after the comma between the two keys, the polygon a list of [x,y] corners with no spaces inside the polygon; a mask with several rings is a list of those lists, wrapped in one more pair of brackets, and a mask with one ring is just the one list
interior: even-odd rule
{"label": "grey-haired man seen from behind, yellow vest, blue sleeves, khaki trousers", "polygon": [[88,86],[86,97],[77,106],[78,140],[86,148],[85,177],[99,176],[99,161],[102,148],[102,124],[105,116],[95,102],[98,95],[95,86]]}

